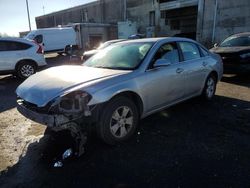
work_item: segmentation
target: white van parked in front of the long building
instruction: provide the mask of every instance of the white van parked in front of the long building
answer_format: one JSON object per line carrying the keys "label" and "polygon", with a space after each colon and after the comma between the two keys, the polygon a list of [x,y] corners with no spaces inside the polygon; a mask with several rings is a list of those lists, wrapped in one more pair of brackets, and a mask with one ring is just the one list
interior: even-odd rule
{"label": "white van parked in front of the long building", "polygon": [[45,53],[68,53],[71,45],[77,45],[76,32],[72,27],[37,29],[29,32],[25,38],[42,44]]}

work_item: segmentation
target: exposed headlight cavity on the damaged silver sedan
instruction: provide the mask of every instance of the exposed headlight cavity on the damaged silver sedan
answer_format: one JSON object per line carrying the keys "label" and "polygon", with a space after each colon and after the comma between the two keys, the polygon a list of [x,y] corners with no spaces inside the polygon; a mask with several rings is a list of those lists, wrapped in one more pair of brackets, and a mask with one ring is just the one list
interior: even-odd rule
{"label": "exposed headlight cavity on the damaged silver sedan", "polygon": [[[75,114],[89,111],[88,102],[91,95],[84,91],[73,91],[55,99],[52,108],[56,108],[59,113]],[[88,114],[85,114],[88,115]]]}

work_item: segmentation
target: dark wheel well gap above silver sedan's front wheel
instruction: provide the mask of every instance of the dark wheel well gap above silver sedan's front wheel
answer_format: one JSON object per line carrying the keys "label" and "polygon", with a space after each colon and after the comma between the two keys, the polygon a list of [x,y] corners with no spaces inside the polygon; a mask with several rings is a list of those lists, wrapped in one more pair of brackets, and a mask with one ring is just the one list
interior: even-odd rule
{"label": "dark wheel well gap above silver sedan's front wheel", "polygon": [[133,91],[125,91],[125,92],[122,92],[122,93],[115,95],[114,97],[111,98],[111,100],[113,98],[119,97],[119,96],[124,96],[124,97],[127,97],[128,99],[132,100],[138,109],[139,116],[141,116],[141,114],[143,112],[143,102],[141,100],[141,97],[137,93],[135,93]]}

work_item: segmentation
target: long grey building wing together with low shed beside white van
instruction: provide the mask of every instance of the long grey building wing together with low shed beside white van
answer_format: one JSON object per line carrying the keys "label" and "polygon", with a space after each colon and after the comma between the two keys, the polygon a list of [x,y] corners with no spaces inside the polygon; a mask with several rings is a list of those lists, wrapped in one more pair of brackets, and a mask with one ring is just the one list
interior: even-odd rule
{"label": "long grey building wing together with low shed beside white van", "polygon": [[37,28],[73,26],[80,47],[93,48],[102,41],[116,39],[117,22],[124,20],[124,0],[99,0],[36,17]]}

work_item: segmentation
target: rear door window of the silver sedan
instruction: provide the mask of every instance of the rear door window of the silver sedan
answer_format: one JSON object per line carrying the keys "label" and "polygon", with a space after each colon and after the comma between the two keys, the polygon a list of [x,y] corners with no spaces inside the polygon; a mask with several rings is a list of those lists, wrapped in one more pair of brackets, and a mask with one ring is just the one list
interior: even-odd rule
{"label": "rear door window of the silver sedan", "polygon": [[198,47],[191,42],[180,42],[180,48],[182,50],[184,61],[200,58],[200,52]]}

